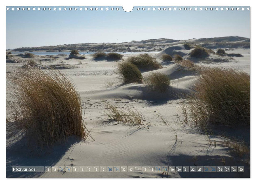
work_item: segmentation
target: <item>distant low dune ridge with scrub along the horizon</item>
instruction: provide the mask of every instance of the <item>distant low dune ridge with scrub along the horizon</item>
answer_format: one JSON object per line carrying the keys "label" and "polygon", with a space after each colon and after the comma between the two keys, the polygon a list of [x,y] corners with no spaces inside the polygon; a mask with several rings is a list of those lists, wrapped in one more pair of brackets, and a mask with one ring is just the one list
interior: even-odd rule
{"label": "distant low dune ridge with scrub along the horizon", "polygon": [[[135,51],[161,51],[166,45],[177,45],[181,43],[201,44],[207,48],[250,48],[250,39],[239,36],[200,38],[189,40],[173,40],[167,38],[149,39],[141,41],[131,41],[122,43],[78,43],[64,44],[56,46],[41,47],[21,47],[13,49],[14,51],[62,51],[62,50],[79,50],[93,52],[135,52]],[[228,43],[228,44],[227,44]]]}

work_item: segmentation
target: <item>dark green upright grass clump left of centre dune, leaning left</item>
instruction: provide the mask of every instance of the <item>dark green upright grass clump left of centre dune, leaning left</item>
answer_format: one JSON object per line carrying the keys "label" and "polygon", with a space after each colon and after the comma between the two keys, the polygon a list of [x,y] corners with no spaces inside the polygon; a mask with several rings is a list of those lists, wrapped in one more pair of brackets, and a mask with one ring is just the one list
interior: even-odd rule
{"label": "dark green upright grass clump left of centre dune, leaning left", "polygon": [[125,84],[142,83],[143,78],[139,69],[132,63],[124,61],[117,64],[119,80]]}

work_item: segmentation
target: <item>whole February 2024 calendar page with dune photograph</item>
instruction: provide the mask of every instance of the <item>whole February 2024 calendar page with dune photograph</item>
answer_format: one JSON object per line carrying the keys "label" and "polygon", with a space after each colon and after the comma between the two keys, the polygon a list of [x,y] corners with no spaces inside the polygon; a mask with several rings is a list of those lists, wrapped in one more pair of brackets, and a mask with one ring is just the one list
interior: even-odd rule
{"label": "whole February 2024 calendar page with dune photograph", "polygon": [[250,6],[6,6],[6,178],[250,178]]}

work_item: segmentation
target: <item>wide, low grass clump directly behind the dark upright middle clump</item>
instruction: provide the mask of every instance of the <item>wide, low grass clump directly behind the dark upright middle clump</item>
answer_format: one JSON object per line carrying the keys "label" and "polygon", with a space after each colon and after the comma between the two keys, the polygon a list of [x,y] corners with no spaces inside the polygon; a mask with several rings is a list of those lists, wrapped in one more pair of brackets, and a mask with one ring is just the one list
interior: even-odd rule
{"label": "wide, low grass clump directly behind the dark upright middle clump", "polygon": [[140,54],[139,56],[131,56],[127,59],[128,62],[136,65],[139,70],[151,71],[163,68],[160,63],[156,61],[156,58],[148,54]]}

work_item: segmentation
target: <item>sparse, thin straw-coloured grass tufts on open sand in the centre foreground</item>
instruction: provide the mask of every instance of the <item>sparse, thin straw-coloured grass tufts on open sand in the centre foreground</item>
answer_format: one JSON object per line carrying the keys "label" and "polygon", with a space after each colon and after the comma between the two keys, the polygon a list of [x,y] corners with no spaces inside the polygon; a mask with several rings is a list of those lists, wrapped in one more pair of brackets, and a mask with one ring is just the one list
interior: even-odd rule
{"label": "sparse, thin straw-coloured grass tufts on open sand in the centre foreground", "polygon": [[115,121],[122,121],[125,125],[140,126],[150,125],[144,115],[139,110],[129,108],[118,108],[112,103],[106,104],[107,108],[104,114],[108,116],[108,119]]}

